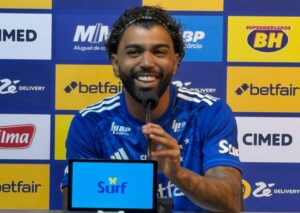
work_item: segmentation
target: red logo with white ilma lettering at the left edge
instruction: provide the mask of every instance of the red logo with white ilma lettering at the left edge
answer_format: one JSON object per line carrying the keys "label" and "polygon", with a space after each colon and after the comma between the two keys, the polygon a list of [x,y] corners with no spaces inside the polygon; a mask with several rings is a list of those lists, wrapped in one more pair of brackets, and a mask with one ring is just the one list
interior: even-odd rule
{"label": "red logo with white ilma lettering at the left edge", "polygon": [[32,124],[0,126],[0,148],[25,149],[30,147],[36,127]]}

